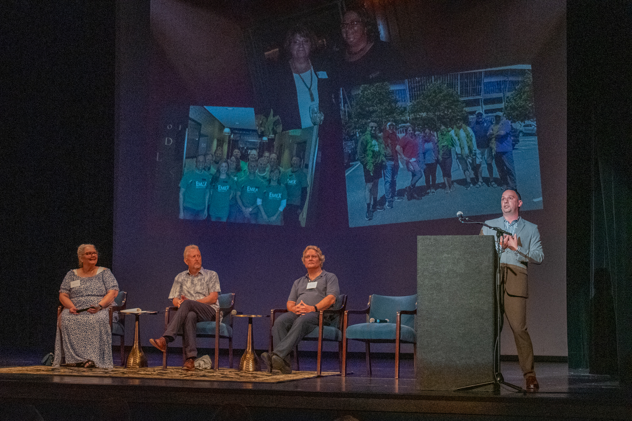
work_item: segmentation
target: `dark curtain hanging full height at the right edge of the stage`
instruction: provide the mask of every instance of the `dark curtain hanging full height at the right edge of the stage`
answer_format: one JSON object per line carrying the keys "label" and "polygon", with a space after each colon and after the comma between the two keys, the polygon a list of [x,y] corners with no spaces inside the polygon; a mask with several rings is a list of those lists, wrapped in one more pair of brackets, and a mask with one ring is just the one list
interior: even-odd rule
{"label": "dark curtain hanging full height at the right edge of the stage", "polygon": [[569,369],[629,383],[632,6],[626,3],[568,3],[567,310]]}

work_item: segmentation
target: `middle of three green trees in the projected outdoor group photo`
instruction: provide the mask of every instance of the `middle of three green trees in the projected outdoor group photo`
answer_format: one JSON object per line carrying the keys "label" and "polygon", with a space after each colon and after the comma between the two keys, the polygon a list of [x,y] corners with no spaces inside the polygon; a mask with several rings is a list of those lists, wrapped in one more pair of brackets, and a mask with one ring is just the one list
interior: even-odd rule
{"label": "middle of three green trees in the projected outdoor group photo", "polygon": [[422,96],[410,105],[408,117],[416,126],[434,131],[439,131],[442,125],[454,127],[455,124],[468,121],[458,93],[441,82],[426,86]]}

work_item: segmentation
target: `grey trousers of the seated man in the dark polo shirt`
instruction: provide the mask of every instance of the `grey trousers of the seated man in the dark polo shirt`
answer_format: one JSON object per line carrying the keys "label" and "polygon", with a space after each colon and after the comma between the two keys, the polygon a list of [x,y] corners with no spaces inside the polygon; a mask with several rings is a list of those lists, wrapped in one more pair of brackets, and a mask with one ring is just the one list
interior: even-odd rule
{"label": "grey trousers of the seated man in the dark polo shirt", "polygon": [[319,313],[312,311],[303,316],[293,312],[286,312],[277,317],[272,326],[272,352],[286,359],[305,335],[318,327]]}

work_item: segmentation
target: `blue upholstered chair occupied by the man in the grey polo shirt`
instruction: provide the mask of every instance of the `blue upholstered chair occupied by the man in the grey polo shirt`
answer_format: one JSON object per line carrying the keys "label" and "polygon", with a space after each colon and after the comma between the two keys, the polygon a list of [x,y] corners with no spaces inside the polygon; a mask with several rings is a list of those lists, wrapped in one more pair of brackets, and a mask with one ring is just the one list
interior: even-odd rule
{"label": "blue upholstered chair occupied by the man in the grey polo shirt", "polygon": [[[347,307],[347,295],[341,294],[337,297],[334,305],[327,310],[319,311],[319,326],[314,328],[310,333],[303,336],[303,341],[318,341],[318,352],[316,357],[316,374],[320,376],[321,367],[321,355],[322,355],[322,343],[324,341],[335,341],[338,343],[338,365],[340,372],[343,370],[343,314]],[[270,312],[270,346],[269,353],[272,353],[274,349],[274,343],[272,343],[272,325],[274,324],[274,315],[276,313],[286,313],[287,309],[272,309]],[[294,349],[294,362],[296,364],[296,371],[300,371],[300,365],[298,364],[298,345]],[[268,368],[270,371],[270,368]]]}

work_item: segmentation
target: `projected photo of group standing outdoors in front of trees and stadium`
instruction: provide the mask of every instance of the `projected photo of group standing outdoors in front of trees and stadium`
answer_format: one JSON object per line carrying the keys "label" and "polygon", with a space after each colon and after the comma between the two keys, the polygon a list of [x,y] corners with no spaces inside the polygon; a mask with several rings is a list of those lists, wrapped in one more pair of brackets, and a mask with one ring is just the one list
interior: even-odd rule
{"label": "projected photo of group standing outdoors in front of trees and stadium", "polygon": [[349,227],[542,209],[531,66],[362,85],[341,104]]}

